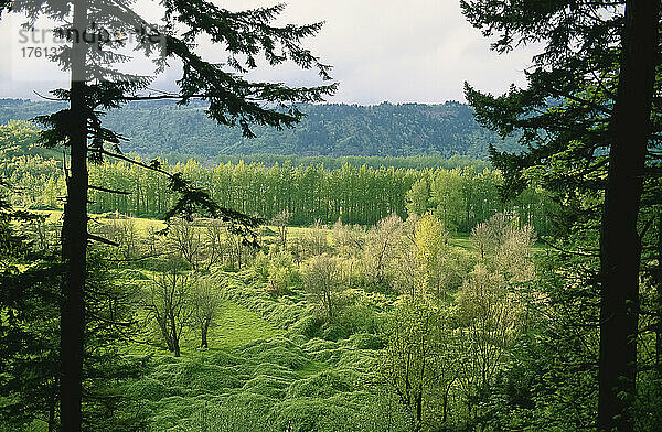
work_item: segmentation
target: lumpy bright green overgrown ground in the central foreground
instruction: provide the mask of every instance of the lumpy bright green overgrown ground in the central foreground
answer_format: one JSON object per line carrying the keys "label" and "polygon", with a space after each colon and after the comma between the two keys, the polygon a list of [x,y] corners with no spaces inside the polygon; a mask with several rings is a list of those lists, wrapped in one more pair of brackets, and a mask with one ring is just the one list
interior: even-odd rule
{"label": "lumpy bright green overgrown ground in the central foreground", "polygon": [[308,338],[299,330],[309,311],[297,295],[271,298],[248,273],[220,281],[212,348],[195,348],[191,335],[181,358],[154,353],[148,374],[125,388],[146,401],[148,431],[384,430],[388,407],[365,391],[374,336]]}

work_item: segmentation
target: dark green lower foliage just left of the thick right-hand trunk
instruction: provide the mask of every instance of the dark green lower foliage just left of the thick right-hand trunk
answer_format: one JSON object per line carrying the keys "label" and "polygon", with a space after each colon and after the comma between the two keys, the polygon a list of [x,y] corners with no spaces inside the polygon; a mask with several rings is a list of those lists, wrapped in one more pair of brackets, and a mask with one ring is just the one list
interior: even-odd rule
{"label": "dark green lower foliage just left of the thick right-hand trunk", "polygon": [[[504,431],[595,431],[598,328],[583,323],[598,316],[598,293],[586,258],[575,258],[574,264],[584,263],[578,268],[567,267],[566,259],[547,255],[536,283],[519,290],[525,312],[519,315],[521,328],[513,333],[508,359],[473,424]],[[576,273],[566,279],[558,269]]]}

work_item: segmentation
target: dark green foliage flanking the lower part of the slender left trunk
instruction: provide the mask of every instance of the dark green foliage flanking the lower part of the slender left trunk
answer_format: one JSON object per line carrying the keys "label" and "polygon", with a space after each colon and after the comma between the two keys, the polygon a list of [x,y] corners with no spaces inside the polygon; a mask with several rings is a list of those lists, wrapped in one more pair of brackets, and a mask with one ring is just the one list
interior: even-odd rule
{"label": "dark green foliage flanking the lower part of the slender left trunk", "polygon": [[[42,219],[12,210],[0,196],[0,421],[9,430],[35,423],[58,428],[62,266],[50,245],[17,234]],[[83,359],[85,430],[103,432],[143,425],[135,400],[120,389],[142,369],[140,360],[119,354],[135,334],[136,292],[106,258],[96,252],[88,263]]]}

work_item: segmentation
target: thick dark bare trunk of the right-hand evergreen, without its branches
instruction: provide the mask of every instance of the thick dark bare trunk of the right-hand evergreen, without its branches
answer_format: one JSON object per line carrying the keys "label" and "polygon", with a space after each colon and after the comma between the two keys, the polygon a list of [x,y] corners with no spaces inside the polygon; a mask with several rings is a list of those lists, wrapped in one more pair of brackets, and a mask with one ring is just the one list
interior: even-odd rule
{"label": "thick dark bare trunk of the right-hand evergreen, without its branches", "polygon": [[637,218],[650,137],[660,1],[628,0],[600,236],[598,429],[632,431],[639,304]]}

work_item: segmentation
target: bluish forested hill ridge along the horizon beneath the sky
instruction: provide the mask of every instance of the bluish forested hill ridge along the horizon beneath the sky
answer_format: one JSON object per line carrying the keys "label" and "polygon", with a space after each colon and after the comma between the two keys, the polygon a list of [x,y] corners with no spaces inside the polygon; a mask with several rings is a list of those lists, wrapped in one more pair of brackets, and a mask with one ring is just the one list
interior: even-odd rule
{"label": "bluish forested hill ridge along the horizon beneath the sky", "polygon": [[[29,120],[62,105],[52,101],[0,99],[0,123]],[[255,139],[242,137],[206,118],[204,105],[178,106],[172,101],[134,102],[105,117],[105,126],[130,138],[125,152],[145,156],[183,154],[216,160],[218,155],[296,154],[299,156],[407,156],[435,154],[485,159],[490,143],[516,149],[473,119],[471,107],[382,104],[305,105],[308,116],[295,129],[255,127]]]}

